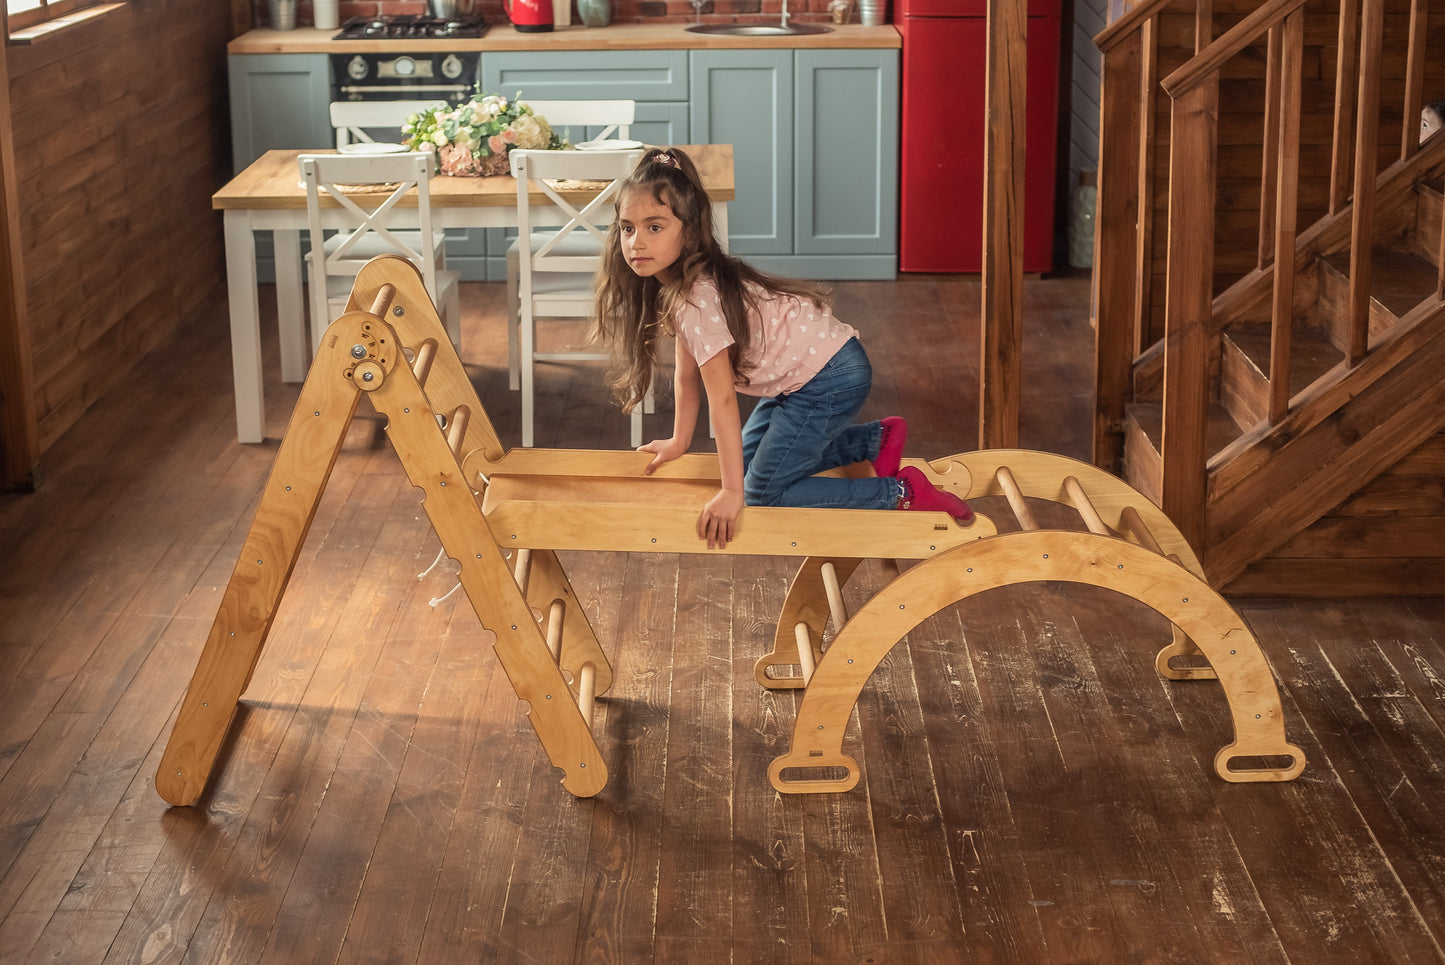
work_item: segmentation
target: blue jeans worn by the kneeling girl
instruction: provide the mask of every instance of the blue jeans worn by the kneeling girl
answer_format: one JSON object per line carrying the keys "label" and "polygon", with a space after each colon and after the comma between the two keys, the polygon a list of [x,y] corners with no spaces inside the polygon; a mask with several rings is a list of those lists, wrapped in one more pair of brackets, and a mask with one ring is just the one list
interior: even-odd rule
{"label": "blue jeans worn by the kneeling girl", "polygon": [[897,509],[894,478],[816,477],[879,455],[883,425],[853,425],[873,384],[873,365],[850,338],[808,384],[763,399],[743,426],[743,496],[749,506]]}

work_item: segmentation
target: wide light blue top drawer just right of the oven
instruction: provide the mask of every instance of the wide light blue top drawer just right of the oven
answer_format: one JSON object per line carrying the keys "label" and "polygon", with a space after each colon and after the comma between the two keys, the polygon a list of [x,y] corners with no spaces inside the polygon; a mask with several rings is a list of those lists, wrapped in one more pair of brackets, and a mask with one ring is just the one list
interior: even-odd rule
{"label": "wide light blue top drawer just right of the oven", "polygon": [[688,100],[686,51],[542,51],[481,58],[481,85],[523,100]]}

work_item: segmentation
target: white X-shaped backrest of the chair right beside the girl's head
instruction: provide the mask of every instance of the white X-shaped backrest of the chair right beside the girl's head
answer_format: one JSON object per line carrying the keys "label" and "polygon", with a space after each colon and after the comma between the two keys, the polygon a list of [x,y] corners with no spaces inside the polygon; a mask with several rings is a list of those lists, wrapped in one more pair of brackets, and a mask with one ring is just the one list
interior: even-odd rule
{"label": "white X-shaped backrest of the chair right beside the girl's head", "polygon": [[[517,237],[532,240],[517,246],[523,286],[530,285],[533,272],[591,272],[597,267],[595,254],[562,254],[562,243],[582,231],[592,235],[600,248],[613,221],[617,189],[642,156],[636,149],[512,152],[512,175],[517,179]],[[568,182],[568,192],[582,191],[587,198],[565,199],[558,182]],[[532,199],[533,189],[540,189],[546,198],[540,205]],[[549,212],[551,224],[556,224],[551,212],[561,211],[562,227],[538,233],[536,228],[548,227],[539,208]]]}

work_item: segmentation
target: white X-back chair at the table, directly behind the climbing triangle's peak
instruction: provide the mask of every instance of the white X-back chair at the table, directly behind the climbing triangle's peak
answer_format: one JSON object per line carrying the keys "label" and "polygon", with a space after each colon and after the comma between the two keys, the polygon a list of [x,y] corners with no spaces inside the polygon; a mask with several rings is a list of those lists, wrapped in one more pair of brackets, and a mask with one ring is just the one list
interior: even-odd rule
{"label": "white X-back chair at the table, directly behind the climbing triangle's peak", "polygon": [[[447,334],[460,348],[458,279],[455,272],[442,267],[444,237],[432,227],[429,179],[436,165],[432,153],[301,155],[299,165],[311,228],[306,272],[312,355],[327,325],[345,311],[357,272],[377,254],[400,254],[420,269],[428,293],[441,308]],[[371,191],[358,192],[354,189],[357,185]],[[402,207],[402,199],[412,192],[415,208]],[[329,238],[322,227],[322,195],[334,198],[348,215],[348,225]]]}

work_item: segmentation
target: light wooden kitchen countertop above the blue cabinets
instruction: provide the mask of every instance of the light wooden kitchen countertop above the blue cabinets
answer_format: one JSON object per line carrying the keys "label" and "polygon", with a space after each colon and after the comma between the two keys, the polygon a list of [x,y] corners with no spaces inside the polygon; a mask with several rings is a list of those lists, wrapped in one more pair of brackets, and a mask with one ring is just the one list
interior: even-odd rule
{"label": "light wooden kitchen countertop above the blue cabinets", "polygon": [[832,26],[828,33],[796,36],[727,36],[688,33],[686,23],[613,23],[605,27],[572,25],[549,33],[519,33],[510,23],[493,23],[483,38],[444,40],[332,40],[337,30],[249,30],[225,45],[227,53],[355,53],[426,51],[699,51],[699,49],[827,49],[899,48],[902,38],[892,25],[866,27],[857,23]]}

